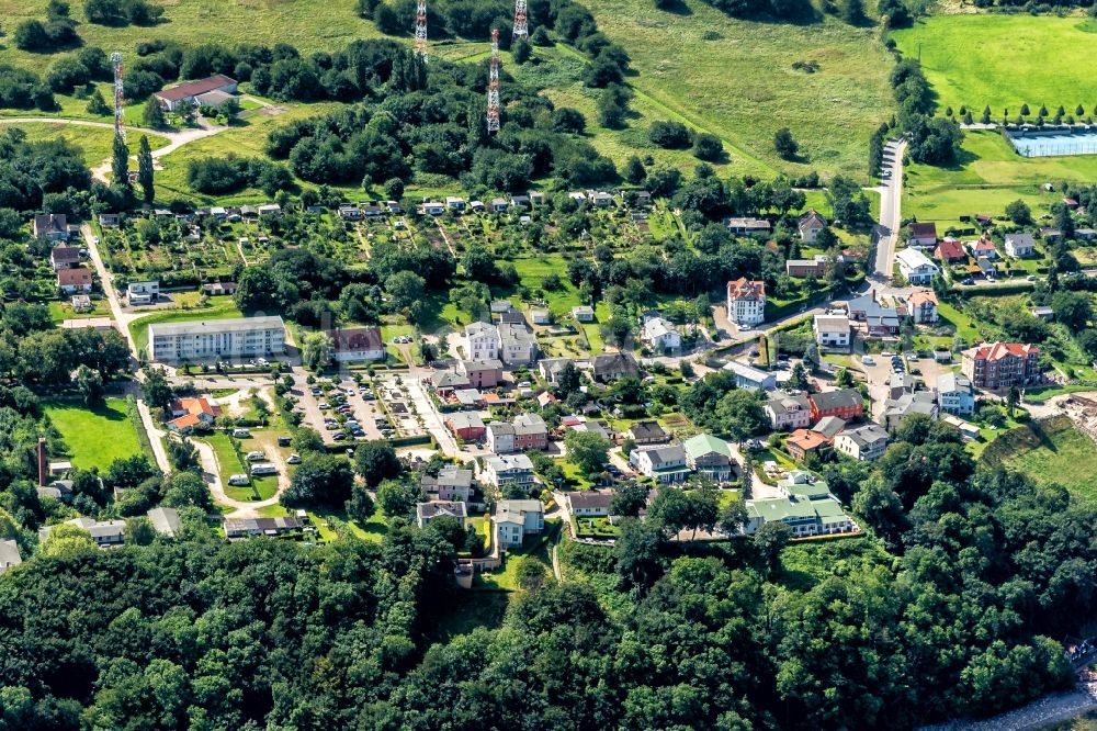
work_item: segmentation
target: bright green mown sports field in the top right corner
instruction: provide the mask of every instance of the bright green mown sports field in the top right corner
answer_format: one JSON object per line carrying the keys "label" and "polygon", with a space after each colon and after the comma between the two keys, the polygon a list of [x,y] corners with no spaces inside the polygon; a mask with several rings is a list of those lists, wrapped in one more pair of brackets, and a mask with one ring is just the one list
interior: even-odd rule
{"label": "bright green mown sports field in the top right corner", "polygon": [[1097,104],[1097,77],[1079,59],[1097,53],[1097,20],[1051,15],[936,15],[892,37],[906,58],[921,56],[941,110],[966,104],[1002,119],[1021,104],[1067,114]]}

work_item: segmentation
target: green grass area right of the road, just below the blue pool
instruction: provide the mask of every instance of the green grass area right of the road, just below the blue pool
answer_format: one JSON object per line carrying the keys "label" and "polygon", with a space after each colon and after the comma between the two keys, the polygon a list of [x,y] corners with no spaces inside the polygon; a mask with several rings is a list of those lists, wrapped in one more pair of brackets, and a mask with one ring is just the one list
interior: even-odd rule
{"label": "green grass area right of the road, just below the blue pool", "polygon": [[904,216],[959,224],[962,215],[1000,216],[1017,199],[1033,212],[1043,211],[1061,195],[1044,192],[1041,185],[1097,179],[1097,156],[1026,158],[997,132],[969,131],[955,165],[911,165],[905,176]]}

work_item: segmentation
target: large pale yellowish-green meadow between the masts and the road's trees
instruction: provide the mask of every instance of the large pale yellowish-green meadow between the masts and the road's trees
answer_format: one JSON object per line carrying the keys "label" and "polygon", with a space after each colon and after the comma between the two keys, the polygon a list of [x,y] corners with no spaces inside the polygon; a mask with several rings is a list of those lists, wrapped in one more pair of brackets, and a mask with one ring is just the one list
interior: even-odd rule
{"label": "large pale yellowish-green meadow between the masts and the road's trees", "polygon": [[[894,106],[887,86],[894,61],[879,29],[833,18],[759,23],[701,0],[682,5],[688,12],[658,10],[651,0],[588,4],[601,31],[632,58],[637,75],[627,80],[645,117],[680,117],[713,132],[739,150],[731,150],[738,170],[864,176],[869,137]],[[719,37],[705,41],[712,32]],[[818,71],[794,70],[796,61],[816,61]],[[773,134],[781,127],[792,130],[805,162],[777,156]]]}

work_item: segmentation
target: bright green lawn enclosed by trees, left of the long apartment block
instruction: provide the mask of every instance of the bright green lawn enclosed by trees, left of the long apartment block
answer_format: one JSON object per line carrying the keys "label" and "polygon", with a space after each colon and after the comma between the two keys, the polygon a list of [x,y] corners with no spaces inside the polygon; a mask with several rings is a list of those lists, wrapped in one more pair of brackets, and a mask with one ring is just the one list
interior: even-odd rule
{"label": "bright green lawn enclosed by trees, left of the long apartment block", "polygon": [[142,451],[124,398],[108,398],[91,408],[79,402],[49,401],[45,411],[78,468],[105,470],[114,460]]}

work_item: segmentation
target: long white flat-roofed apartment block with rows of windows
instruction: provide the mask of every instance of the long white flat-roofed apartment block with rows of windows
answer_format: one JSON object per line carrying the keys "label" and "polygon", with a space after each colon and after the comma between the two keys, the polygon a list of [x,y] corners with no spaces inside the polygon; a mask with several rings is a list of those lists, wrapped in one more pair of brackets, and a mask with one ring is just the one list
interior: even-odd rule
{"label": "long white flat-roofed apartment block with rows of windows", "polygon": [[256,358],[285,352],[281,317],[237,317],[148,326],[148,355],[154,361],[204,358]]}

